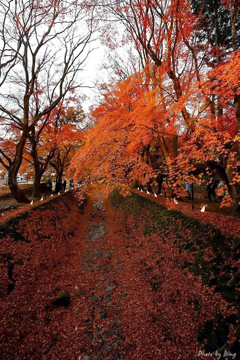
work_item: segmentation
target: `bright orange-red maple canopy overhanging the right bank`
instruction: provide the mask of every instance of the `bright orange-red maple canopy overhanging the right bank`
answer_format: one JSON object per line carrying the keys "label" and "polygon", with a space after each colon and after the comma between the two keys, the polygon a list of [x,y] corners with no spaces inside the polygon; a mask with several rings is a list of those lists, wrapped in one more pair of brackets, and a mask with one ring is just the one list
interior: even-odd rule
{"label": "bright orange-red maple canopy overhanging the right bank", "polygon": [[103,14],[121,21],[124,41],[134,42],[142,71],[126,77],[126,68],[115,66],[121,82],[103,84],[104,99],[92,112],[95,127],[73,160],[76,179],[84,174],[86,189],[100,176],[107,185],[137,180],[149,186],[167,173],[179,196],[183,180],[201,183],[203,174],[215,174],[230,194],[222,205],[239,213],[238,2],[227,2],[217,17],[224,24],[228,16],[230,34],[215,44],[216,22],[205,41],[202,13],[188,1],[106,6]]}

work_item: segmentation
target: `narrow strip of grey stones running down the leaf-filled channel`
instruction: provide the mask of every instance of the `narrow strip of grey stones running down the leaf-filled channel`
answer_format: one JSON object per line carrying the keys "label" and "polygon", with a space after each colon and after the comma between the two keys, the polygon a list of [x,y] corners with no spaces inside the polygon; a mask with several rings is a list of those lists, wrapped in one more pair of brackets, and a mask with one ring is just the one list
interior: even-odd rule
{"label": "narrow strip of grey stones running down the leaf-filled channel", "polygon": [[[93,211],[89,213],[90,221],[86,235],[88,252],[82,258],[82,271],[85,276],[90,271],[94,271],[96,274],[91,287],[91,311],[85,320],[86,330],[84,331],[84,335],[89,338],[90,351],[83,356],[83,360],[98,360],[102,358],[102,354],[105,360],[108,359],[109,354],[112,356],[114,354],[114,358],[119,359],[121,354],[118,352],[118,343],[125,340],[119,318],[113,318],[112,321],[108,320],[106,327],[96,326],[96,323],[105,319],[107,315],[108,319],[111,319],[112,309],[116,309],[118,306],[112,300],[116,290],[114,280],[111,282],[110,275],[113,275],[115,271],[123,270],[117,248],[109,249],[104,239],[104,235],[108,232],[108,229],[105,228],[104,218],[106,210],[103,206],[101,193],[97,194],[97,198],[98,200],[94,202]],[[109,264],[111,257],[114,257],[114,263],[118,264],[116,270]],[[109,344],[110,338],[113,339],[113,346]]]}

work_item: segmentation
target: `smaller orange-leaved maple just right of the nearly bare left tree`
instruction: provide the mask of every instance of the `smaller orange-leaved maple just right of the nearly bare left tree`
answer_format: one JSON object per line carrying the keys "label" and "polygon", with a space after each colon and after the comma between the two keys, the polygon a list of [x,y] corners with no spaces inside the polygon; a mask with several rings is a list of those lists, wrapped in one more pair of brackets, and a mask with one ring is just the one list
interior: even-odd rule
{"label": "smaller orange-leaved maple just right of the nearly bare left tree", "polygon": [[85,114],[81,105],[68,106],[73,100],[71,97],[65,106],[62,103],[58,105],[51,111],[43,126],[34,130],[34,134],[28,135],[20,169],[34,177],[33,198],[40,196],[40,182],[46,171],[51,177],[53,169],[56,170],[56,180],[61,181],[60,172],[63,174],[74,149],[81,144],[81,131],[87,122],[83,123]]}

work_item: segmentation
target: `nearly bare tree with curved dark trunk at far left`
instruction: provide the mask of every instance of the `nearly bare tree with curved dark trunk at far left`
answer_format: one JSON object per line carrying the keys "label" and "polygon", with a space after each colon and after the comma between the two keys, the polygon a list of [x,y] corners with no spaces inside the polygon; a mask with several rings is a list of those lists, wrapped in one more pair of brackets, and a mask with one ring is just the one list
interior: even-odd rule
{"label": "nearly bare tree with curved dark trunk at far left", "polygon": [[[28,202],[16,180],[27,138],[31,138],[35,156],[37,134],[47,124],[49,114],[66,94],[81,86],[76,82],[76,75],[91,51],[86,45],[93,32],[90,20],[85,33],[78,38],[74,36],[82,12],[83,6],[75,1],[1,3],[0,119],[3,136],[0,162],[8,171],[8,185],[18,202]],[[54,43],[58,44],[58,50]],[[62,58],[58,55],[60,49]],[[14,84],[13,90],[6,86],[8,83]],[[9,149],[5,146],[6,138],[10,141],[13,136],[15,149],[12,145]]]}

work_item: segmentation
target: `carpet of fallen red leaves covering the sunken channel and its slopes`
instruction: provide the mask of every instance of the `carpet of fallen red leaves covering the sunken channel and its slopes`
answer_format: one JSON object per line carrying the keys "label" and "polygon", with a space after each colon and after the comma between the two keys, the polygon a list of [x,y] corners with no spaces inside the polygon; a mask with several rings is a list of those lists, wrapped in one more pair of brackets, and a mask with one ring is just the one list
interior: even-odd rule
{"label": "carpet of fallen red leaves covering the sunken channel and its slopes", "polygon": [[236,304],[203,283],[211,248],[196,264],[195,249],[179,246],[191,230],[176,242],[165,213],[159,230],[148,203],[117,192],[110,200],[96,191],[82,213],[63,195],[2,225],[0,356],[188,360],[233,351]]}

